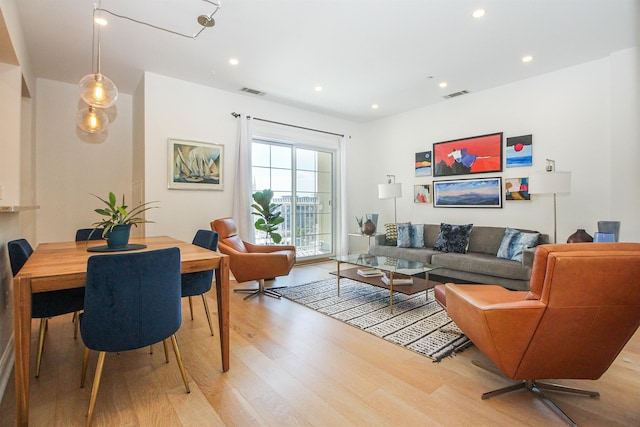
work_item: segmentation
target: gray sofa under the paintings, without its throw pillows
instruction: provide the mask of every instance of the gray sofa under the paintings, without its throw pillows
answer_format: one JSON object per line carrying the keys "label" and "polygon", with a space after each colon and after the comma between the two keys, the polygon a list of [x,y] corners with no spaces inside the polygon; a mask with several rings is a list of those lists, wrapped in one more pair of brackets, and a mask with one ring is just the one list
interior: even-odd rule
{"label": "gray sofa under the paintings, without its throw pillows", "polygon": [[[498,249],[506,227],[473,226],[467,252],[440,252],[433,246],[440,232],[440,224],[424,224],[424,248],[400,248],[386,245],[386,236],[379,234],[369,247],[372,255],[402,258],[437,265],[432,274],[472,283],[501,285],[513,290],[528,290],[535,248],[523,253],[522,262],[498,258]],[[532,230],[518,229],[523,232]],[[549,236],[540,234],[538,244],[549,243]]]}

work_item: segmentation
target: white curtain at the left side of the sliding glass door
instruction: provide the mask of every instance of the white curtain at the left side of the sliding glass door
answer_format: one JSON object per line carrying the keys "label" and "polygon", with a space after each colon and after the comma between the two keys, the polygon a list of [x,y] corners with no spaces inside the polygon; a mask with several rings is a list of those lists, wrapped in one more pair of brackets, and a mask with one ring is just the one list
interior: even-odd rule
{"label": "white curtain at the left side of the sliding glass door", "polygon": [[251,117],[238,116],[238,156],[236,165],[236,188],[233,196],[233,220],[238,226],[242,240],[253,243],[253,221],[251,220]]}

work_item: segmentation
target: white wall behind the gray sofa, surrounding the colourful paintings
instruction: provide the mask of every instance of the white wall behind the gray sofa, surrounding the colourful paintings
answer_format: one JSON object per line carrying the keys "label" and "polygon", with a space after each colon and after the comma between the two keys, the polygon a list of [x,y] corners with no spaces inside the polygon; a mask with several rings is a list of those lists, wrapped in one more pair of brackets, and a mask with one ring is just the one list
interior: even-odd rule
{"label": "white wall behind the gray sofa, surrounding the colourful paintings", "polygon": [[[432,177],[414,176],[416,152],[431,150],[435,142],[494,132],[504,132],[505,139],[533,134],[533,167],[505,168],[502,173],[474,177],[528,176],[544,170],[546,158],[554,159],[557,170],[571,171],[573,179],[571,193],[558,195],[558,240],[564,241],[577,228],[593,234],[597,231],[598,220],[620,218],[620,212],[615,208],[618,201],[613,200],[611,192],[612,169],[618,165],[618,161],[612,159],[612,144],[616,153],[627,151],[630,146],[634,147],[629,150],[632,156],[637,153],[638,97],[635,98],[635,115],[617,119],[635,125],[634,138],[629,138],[632,132],[625,132],[624,136],[613,133],[610,121],[611,103],[620,96],[629,97],[623,95],[621,89],[612,94],[612,76],[623,79],[616,85],[637,87],[637,71],[635,74],[615,72],[626,69],[631,58],[637,56],[626,54],[618,61],[605,58],[372,123],[363,141],[371,145],[379,161],[373,162],[377,167],[367,176],[369,186],[384,182],[387,173],[396,175],[397,181],[403,184],[403,197],[398,199],[399,221],[508,225],[552,235],[553,201],[550,195],[533,196],[528,202],[504,202],[502,209],[434,208],[428,204],[414,204],[412,200],[414,184],[433,181]],[[625,101],[620,106],[626,104]],[[627,165],[636,167],[637,161],[635,155]],[[616,169],[616,174],[620,173]],[[617,196],[634,202],[627,203],[624,208],[626,215],[621,238],[638,240],[639,191],[635,185],[624,188],[625,194]],[[358,198],[356,205],[382,213],[383,223],[393,219],[392,201],[374,200],[371,203],[369,193],[365,196],[355,193],[354,197]]]}

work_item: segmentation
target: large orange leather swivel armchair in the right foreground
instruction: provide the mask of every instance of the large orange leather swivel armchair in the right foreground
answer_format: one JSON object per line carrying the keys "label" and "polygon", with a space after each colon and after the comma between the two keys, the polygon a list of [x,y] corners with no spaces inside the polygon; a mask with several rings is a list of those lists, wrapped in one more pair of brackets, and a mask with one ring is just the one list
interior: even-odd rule
{"label": "large orange leather swivel armchair in the right foreground", "polygon": [[640,244],[539,246],[528,292],[440,286],[456,325],[504,375],[522,380],[482,399],[530,390],[575,425],[543,390],[599,393],[538,379],[596,380],[611,366],[640,325]]}

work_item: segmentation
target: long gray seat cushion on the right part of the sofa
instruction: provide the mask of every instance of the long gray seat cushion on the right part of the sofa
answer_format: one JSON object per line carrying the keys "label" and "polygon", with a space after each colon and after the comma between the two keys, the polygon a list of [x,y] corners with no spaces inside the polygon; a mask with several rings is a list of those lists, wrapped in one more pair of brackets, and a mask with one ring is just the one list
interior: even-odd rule
{"label": "long gray seat cushion on the right part of the sofa", "polygon": [[[531,275],[531,268],[524,266],[521,262],[476,252],[436,253],[431,257],[431,264],[446,269],[515,280],[529,280]],[[438,274],[438,270],[434,270],[433,274]]]}

